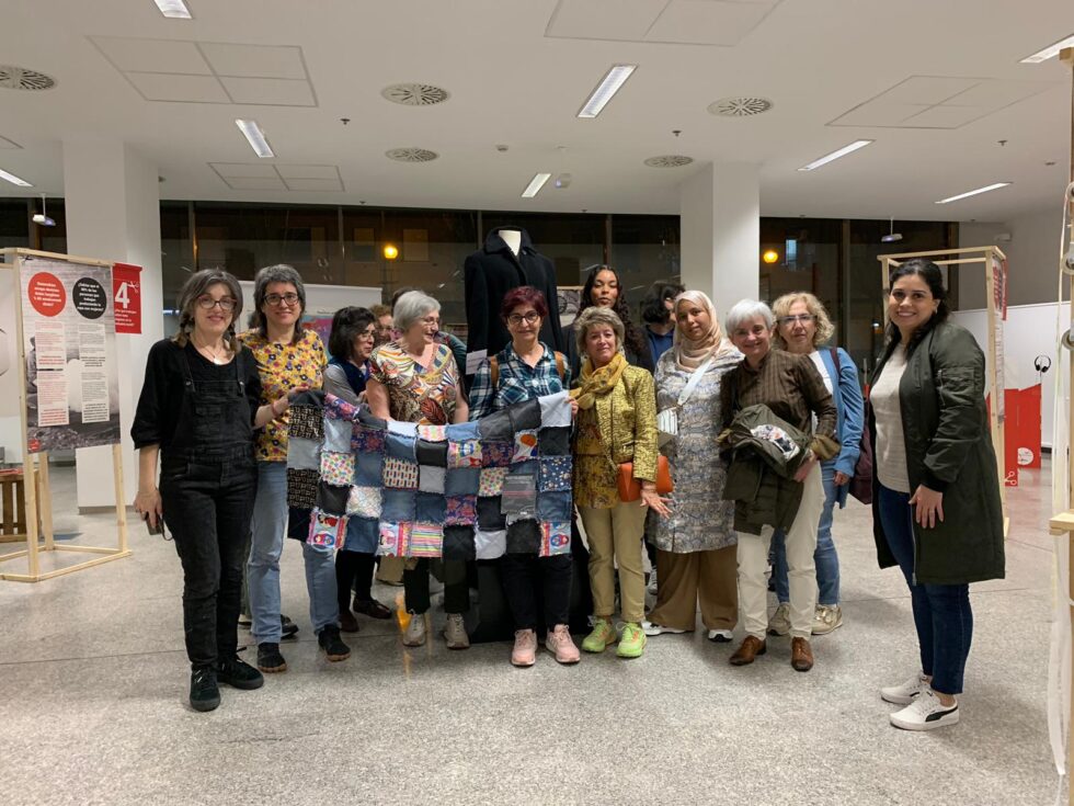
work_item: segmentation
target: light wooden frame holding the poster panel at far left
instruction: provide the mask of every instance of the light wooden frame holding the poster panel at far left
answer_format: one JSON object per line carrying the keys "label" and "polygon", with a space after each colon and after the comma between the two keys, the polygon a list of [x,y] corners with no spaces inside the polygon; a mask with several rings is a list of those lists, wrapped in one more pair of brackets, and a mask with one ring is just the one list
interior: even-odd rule
{"label": "light wooden frame holding the poster panel at far left", "polygon": [[[108,266],[112,263],[93,260],[90,258],[77,258],[70,254],[57,254],[54,252],[42,252],[35,249],[0,249],[3,261],[0,262],[0,270],[11,271],[14,274],[14,308],[15,308],[15,354],[18,357],[19,376],[19,412],[20,412],[20,440],[22,443],[22,466],[23,477],[30,483],[25,485],[26,495],[26,547],[21,550],[12,552],[0,556],[0,563],[13,559],[26,558],[26,574],[0,574],[0,579],[12,582],[41,582],[45,579],[61,577],[66,574],[73,574],[85,568],[92,568],[103,563],[110,563],[122,557],[129,557],[130,549],[127,546],[127,508],[123,500],[123,452],[118,444],[112,445],[112,475],[115,483],[115,511],[116,511],[116,545],[111,546],[58,546],[56,545],[53,533],[53,497],[48,480],[48,454],[41,452],[30,453],[26,441],[26,356],[25,342],[23,339],[23,313],[22,313],[22,281],[21,269],[23,258],[46,258],[48,260],[82,263],[85,265]],[[33,484],[34,475],[37,474],[38,483]],[[39,496],[38,496],[39,490]],[[38,530],[38,516],[41,527]],[[38,545],[38,540],[44,537],[44,545]],[[56,568],[50,571],[41,570],[42,552],[71,552],[79,554],[101,555],[92,559],[87,559],[64,568]]]}

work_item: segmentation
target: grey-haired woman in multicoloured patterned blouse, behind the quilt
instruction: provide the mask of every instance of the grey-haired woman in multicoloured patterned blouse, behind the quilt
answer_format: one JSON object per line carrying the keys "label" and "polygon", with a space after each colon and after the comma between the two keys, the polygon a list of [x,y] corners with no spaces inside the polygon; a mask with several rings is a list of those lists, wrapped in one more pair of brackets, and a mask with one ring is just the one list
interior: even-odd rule
{"label": "grey-haired woman in multicoloured patterned blouse, behind the quilt", "polygon": [[[369,360],[366,399],[375,417],[420,425],[467,421],[469,407],[452,349],[436,341],[439,311],[441,304],[420,291],[407,292],[396,300],[392,315],[401,334],[374,350]],[[462,622],[462,614],[470,608],[466,563],[444,560],[444,637],[448,649],[466,649],[470,646]],[[430,608],[427,559],[407,560],[403,589],[411,614],[403,645],[422,646]]]}

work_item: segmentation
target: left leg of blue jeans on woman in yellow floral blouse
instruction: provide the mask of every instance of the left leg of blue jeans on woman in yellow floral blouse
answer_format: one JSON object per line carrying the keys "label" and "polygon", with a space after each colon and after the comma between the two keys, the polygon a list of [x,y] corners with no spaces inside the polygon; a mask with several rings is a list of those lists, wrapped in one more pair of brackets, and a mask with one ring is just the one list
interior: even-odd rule
{"label": "left leg of blue jeans on woman in yellow floral blouse", "polygon": [[287,532],[287,463],[258,463],[258,497],[250,522],[250,559],[247,584],[250,588],[251,633],[258,644],[278,644],[279,555]]}

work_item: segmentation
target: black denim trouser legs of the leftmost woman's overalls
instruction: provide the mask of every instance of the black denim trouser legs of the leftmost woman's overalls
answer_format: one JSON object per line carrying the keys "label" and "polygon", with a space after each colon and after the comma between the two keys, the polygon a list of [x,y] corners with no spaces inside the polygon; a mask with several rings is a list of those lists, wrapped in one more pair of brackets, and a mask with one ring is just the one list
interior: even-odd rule
{"label": "black denim trouser legs of the leftmost woman's overalls", "polygon": [[193,668],[235,657],[256,490],[252,455],[161,463],[160,498],[183,564],[183,627]]}

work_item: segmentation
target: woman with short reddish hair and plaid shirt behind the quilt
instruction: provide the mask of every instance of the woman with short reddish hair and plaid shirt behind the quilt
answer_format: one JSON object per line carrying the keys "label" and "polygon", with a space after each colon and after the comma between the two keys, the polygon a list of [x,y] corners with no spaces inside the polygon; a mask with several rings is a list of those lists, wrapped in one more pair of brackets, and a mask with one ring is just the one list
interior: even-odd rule
{"label": "woman with short reddish hair and plaid shirt behind the quilt", "polygon": [[[490,415],[512,404],[569,388],[565,356],[539,339],[548,316],[545,295],[523,285],[512,288],[500,305],[511,342],[485,359],[470,388],[470,419]],[[515,645],[511,662],[533,666],[537,659],[537,602],[544,604],[545,648],[560,663],[576,663],[580,655],[571,639],[571,555],[536,557],[505,554],[500,563],[503,592],[515,621]]]}

